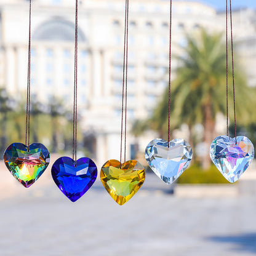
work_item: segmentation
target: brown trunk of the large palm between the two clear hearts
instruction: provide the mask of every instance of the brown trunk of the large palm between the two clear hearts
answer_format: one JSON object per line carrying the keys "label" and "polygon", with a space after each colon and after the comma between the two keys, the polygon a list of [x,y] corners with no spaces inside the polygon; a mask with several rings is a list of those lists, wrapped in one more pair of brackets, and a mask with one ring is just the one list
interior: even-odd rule
{"label": "brown trunk of the large palm between the two clear hearts", "polygon": [[210,143],[215,136],[215,121],[212,114],[212,105],[208,103],[204,107],[204,143],[207,148],[207,154],[202,159],[202,169],[207,170],[210,167],[210,156],[209,156],[209,148]]}

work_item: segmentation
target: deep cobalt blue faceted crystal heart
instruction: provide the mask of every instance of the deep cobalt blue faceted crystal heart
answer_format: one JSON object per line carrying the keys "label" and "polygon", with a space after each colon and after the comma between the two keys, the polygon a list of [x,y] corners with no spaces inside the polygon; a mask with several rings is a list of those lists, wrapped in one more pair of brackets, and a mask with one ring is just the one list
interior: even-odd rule
{"label": "deep cobalt blue faceted crystal heart", "polygon": [[94,184],[97,178],[97,167],[90,158],[75,161],[63,156],[52,166],[52,178],[65,196],[72,202],[81,198]]}

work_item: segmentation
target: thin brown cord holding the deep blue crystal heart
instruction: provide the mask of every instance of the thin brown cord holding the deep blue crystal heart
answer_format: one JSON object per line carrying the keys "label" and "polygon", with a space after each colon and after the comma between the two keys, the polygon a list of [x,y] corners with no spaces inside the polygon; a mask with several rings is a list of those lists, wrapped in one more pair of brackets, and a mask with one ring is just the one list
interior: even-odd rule
{"label": "thin brown cord holding the deep blue crystal heart", "polygon": [[73,109],[73,159],[76,166],[78,138],[78,0],[76,0],[76,22],[74,33],[74,109]]}

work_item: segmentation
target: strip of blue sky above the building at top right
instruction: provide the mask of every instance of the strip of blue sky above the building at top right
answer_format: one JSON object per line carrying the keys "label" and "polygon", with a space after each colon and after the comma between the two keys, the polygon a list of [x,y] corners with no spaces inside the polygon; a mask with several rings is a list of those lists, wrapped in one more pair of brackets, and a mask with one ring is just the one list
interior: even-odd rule
{"label": "strip of blue sky above the building at top right", "polygon": [[[226,1],[225,0],[200,0],[201,2],[205,2],[206,4],[210,4],[214,6],[216,9],[225,9]],[[256,1],[255,0],[233,0],[233,7],[250,7],[256,9]]]}

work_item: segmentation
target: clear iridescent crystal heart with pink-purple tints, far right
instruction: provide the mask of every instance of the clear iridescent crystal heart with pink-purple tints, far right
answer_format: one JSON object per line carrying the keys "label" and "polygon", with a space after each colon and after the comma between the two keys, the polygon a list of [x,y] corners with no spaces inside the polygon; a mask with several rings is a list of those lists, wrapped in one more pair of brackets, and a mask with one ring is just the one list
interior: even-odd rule
{"label": "clear iridescent crystal heart with pink-purple tints, far right", "polygon": [[244,136],[218,136],[210,145],[210,158],[222,175],[233,183],[254,159],[254,145]]}

